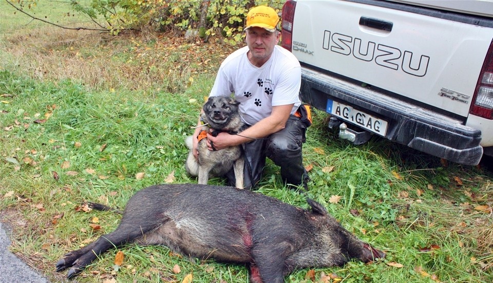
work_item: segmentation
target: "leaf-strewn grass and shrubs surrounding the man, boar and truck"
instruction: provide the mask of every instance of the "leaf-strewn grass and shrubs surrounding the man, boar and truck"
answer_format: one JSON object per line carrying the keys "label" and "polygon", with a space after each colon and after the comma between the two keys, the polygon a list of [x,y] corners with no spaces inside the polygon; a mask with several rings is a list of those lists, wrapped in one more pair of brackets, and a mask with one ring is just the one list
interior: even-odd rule
{"label": "leaf-strewn grass and shrubs surrounding the man, boar and truck", "polygon": [[[163,3],[175,6],[161,18],[139,10]],[[223,14],[208,6],[208,24],[199,26],[202,2],[0,1],[0,219],[12,228],[13,253],[62,282],[66,272],[54,272],[55,262],[112,231],[120,219],[89,211],[85,201],[122,208],[145,186],[196,182],[184,170],[183,140],[192,134],[220,62],[242,45],[245,7],[252,2],[234,3]],[[117,5],[109,9],[115,13],[83,9],[108,5]],[[198,32],[185,39],[187,30]],[[287,282],[493,281],[493,174],[486,161],[462,166],[378,138],[355,147],[330,133],[327,120],[315,110],[307,133],[308,194],[387,258],[300,270]],[[272,163],[258,192],[307,207]],[[191,277],[248,281],[241,266],[134,245],[101,255],[75,281]]]}

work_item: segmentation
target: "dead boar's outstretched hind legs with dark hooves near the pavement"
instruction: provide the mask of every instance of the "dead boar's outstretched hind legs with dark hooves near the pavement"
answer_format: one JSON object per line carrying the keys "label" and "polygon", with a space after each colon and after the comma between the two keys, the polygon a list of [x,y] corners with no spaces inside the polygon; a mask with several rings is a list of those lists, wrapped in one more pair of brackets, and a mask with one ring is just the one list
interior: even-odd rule
{"label": "dead boar's outstretched hind legs with dark hooves near the pavement", "polygon": [[122,222],[115,231],[99,237],[80,250],[65,254],[56,263],[56,271],[70,268],[67,278],[71,278],[81,273],[100,254],[113,247],[120,247],[127,242],[132,242],[153,228],[152,226],[143,227],[142,225]]}

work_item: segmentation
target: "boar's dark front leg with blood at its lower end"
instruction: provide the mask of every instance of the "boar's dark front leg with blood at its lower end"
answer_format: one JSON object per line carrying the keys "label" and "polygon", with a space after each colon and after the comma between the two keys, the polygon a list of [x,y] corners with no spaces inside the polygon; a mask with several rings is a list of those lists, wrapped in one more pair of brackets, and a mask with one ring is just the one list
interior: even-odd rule
{"label": "boar's dark front leg with blood at its lower end", "polygon": [[[256,244],[252,249],[255,265],[250,266],[251,282],[283,283],[285,260],[292,252],[293,246],[288,242]],[[260,275],[261,281],[256,274]]]}

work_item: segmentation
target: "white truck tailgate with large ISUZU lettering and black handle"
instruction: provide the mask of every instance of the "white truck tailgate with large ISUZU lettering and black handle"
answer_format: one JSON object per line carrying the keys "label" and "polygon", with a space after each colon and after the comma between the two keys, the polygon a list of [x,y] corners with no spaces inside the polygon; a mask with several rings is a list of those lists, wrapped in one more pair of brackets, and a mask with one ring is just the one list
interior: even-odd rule
{"label": "white truck tailgate with large ISUZU lettering and black handle", "polygon": [[355,2],[298,2],[295,17],[313,21],[293,26],[301,63],[460,117],[493,39],[490,27]]}

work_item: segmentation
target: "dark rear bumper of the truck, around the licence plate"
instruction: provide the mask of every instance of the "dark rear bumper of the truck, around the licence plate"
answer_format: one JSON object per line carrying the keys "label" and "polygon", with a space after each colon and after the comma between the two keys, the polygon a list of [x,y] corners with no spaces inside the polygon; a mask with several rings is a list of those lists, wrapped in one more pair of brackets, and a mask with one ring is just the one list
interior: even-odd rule
{"label": "dark rear bumper of the truck, around the licence plate", "polygon": [[301,68],[301,79],[301,98],[315,108],[326,110],[328,99],[349,104],[387,120],[385,138],[390,141],[460,164],[481,160],[481,130],[459,120],[306,67]]}

